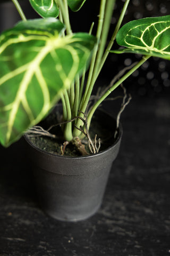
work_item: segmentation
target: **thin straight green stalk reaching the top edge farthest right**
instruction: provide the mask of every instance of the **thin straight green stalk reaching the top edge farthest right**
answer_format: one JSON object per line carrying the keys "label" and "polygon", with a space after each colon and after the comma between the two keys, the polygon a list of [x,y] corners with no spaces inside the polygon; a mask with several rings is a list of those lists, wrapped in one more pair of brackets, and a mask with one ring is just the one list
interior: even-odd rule
{"label": "thin straight green stalk reaching the top edge farthest right", "polygon": [[114,33],[113,33],[113,35],[112,35],[111,41],[109,42],[109,44],[108,44],[108,46],[107,46],[107,49],[106,49],[106,51],[105,51],[105,53],[104,53],[104,55],[103,55],[103,58],[101,59],[100,67],[98,68],[98,73],[97,73],[97,75],[96,75],[96,79],[97,79],[98,75],[100,74],[100,71],[101,71],[101,69],[102,69],[103,66],[104,66],[104,63],[105,63],[105,61],[106,61],[106,59],[107,59],[107,56],[108,56],[108,54],[109,54],[109,51],[111,50],[111,48],[112,48],[112,46],[113,46],[113,43],[114,43],[114,41],[115,41],[117,32],[118,32],[118,30],[119,30],[120,27],[121,27],[121,24],[122,24],[122,21],[123,21],[125,12],[126,12],[126,10],[127,10],[127,8],[128,8],[129,2],[130,2],[130,0],[126,0],[125,3],[124,3],[124,6],[123,6],[123,9],[122,9],[120,18],[119,18],[118,21],[117,21],[117,25],[116,25],[115,30],[114,30]]}

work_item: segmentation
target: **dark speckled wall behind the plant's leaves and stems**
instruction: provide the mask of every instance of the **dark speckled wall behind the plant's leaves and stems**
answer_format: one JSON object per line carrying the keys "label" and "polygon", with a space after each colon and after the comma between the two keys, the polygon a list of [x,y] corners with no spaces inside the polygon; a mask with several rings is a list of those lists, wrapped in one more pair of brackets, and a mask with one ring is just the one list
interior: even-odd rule
{"label": "dark speckled wall behind the plant's leaves and stems", "polygon": [[[115,27],[115,22],[120,14],[124,0],[117,1],[117,5],[112,18],[110,35]],[[29,1],[20,0],[25,15],[28,19],[38,17],[30,7]],[[90,3],[90,8],[89,8]],[[168,15],[170,10],[169,0],[132,0],[129,4],[123,23],[133,19],[140,19],[151,16]],[[10,12],[10,14],[9,14]],[[92,21],[97,22],[99,12],[99,1],[87,0],[83,8],[77,13],[71,13],[73,31],[89,31]],[[91,19],[89,19],[89,17]],[[3,1],[0,8],[0,31],[11,27],[20,17],[15,11],[11,1]],[[94,29],[95,32],[95,29]],[[116,44],[114,47],[117,47]],[[111,54],[101,72],[101,77],[105,79],[104,85],[117,74],[118,71],[129,66],[133,61],[140,59],[140,55],[134,54]],[[117,65],[118,63],[118,65]],[[161,93],[170,94],[170,62],[151,58],[141,68],[128,79],[124,85],[134,94],[141,97],[158,97]]]}

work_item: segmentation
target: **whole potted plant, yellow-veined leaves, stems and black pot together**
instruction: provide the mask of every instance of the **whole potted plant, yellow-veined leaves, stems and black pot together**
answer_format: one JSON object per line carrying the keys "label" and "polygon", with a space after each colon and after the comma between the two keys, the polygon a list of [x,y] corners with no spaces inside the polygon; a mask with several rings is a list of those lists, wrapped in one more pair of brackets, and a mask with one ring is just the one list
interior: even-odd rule
{"label": "whole potted plant, yellow-veined leaves, stems and black pot together", "polygon": [[[98,142],[96,137],[91,139],[92,117],[101,102],[151,56],[169,59],[170,15],[130,21],[120,29],[130,2],[126,0],[107,44],[113,0],[101,0],[98,4],[96,36],[92,35],[94,23],[88,33],[72,32],[69,9],[79,11],[86,0],[47,0],[45,3],[30,0],[42,17],[34,20],[27,20],[18,1],[12,1],[22,21],[0,37],[0,141],[7,147],[26,132],[45,211],[62,220],[86,219],[101,204],[109,169],[118,153],[122,136],[120,114],[130,101],[130,98],[125,101],[124,87],[125,96],[116,122],[111,117],[105,120],[104,113],[96,115],[105,128],[113,123],[109,125],[112,126],[112,145],[105,150],[99,151],[100,139]],[[112,50],[115,39],[123,48]],[[122,70],[116,76],[117,82],[113,79],[99,97],[91,101],[108,54],[124,52],[141,54],[141,60],[128,71]],[[59,118],[63,146],[60,155],[56,155],[47,153],[45,147],[49,138],[56,141],[56,113],[61,110],[54,107],[59,99],[63,110],[62,119]],[[42,120],[46,122],[44,126],[37,126]],[[34,142],[31,142],[32,136]],[[91,153],[82,143],[84,137]],[[45,147],[38,148],[36,144],[42,140]],[[82,156],[65,156],[68,144],[74,145]],[[63,193],[63,197],[59,193]]]}

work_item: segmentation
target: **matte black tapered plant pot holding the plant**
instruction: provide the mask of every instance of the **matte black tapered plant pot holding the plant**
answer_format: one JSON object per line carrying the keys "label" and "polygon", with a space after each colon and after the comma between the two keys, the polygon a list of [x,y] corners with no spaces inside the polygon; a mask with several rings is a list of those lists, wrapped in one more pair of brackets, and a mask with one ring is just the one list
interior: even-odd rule
{"label": "matte black tapered plant pot holding the plant", "polygon": [[[104,116],[115,125],[111,116]],[[106,150],[95,155],[69,157],[46,153],[26,136],[42,209],[51,217],[64,221],[84,220],[93,215],[102,203],[121,137],[120,126],[116,141]]]}

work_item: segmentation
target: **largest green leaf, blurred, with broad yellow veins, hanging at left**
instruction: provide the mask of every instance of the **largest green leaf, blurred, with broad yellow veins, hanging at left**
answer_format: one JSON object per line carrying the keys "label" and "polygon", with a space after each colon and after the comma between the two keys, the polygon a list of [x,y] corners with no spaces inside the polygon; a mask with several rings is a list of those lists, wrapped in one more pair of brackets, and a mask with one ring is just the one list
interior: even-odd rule
{"label": "largest green leaf, blurred, with broad yellow veins, hanging at left", "polygon": [[[54,22],[55,20],[55,22]],[[54,106],[86,65],[96,38],[61,37],[62,23],[41,19],[46,30],[21,22],[0,36],[0,141],[8,146]],[[23,30],[21,30],[21,28]],[[52,29],[53,28],[53,29]]]}

